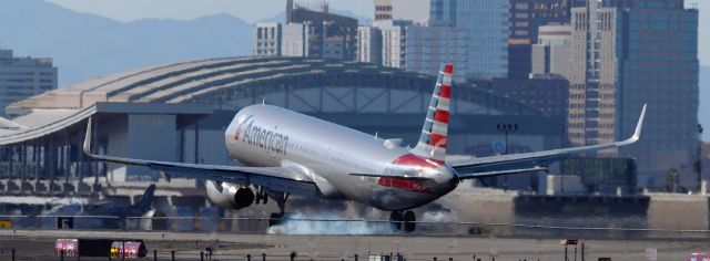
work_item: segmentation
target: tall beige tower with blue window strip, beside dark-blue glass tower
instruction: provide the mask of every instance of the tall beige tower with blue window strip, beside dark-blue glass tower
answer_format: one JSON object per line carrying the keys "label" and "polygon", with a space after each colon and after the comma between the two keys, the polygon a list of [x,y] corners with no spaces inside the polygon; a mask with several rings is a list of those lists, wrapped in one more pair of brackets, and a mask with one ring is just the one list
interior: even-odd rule
{"label": "tall beige tower with blue window strip, beside dark-blue glass tower", "polygon": [[623,33],[619,10],[600,4],[595,0],[572,9],[568,135],[576,146],[611,143],[620,136],[617,54],[622,46],[617,40]]}

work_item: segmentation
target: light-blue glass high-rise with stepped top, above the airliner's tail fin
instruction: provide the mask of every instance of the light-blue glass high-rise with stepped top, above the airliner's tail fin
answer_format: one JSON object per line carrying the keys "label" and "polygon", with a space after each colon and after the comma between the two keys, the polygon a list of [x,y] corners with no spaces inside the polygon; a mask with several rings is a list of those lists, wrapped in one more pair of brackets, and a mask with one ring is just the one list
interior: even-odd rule
{"label": "light-blue glass high-rise with stepped top, above the airliner's tail fin", "polygon": [[[466,34],[466,79],[508,75],[509,0],[432,0],[430,27],[453,27]],[[466,71],[466,70],[465,70]],[[460,70],[459,70],[460,72]]]}

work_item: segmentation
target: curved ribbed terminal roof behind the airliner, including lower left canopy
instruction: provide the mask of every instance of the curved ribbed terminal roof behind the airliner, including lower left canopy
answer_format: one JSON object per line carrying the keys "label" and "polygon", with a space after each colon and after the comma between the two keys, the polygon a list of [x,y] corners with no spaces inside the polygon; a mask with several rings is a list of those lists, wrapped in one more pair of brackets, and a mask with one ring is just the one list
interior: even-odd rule
{"label": "curved ribbed terminal roof behind the airliner, including lower left canopy", "polygon": [[[233,94],[243,88],[273,85],[278,81],[306,85],[307,81],[298,80],[313,77],[351,82],[387,77],[405,87],[420,81],[433,86],[435,81],[434,76],[398,69],[304,58],[221,58],[141,67],[11,104],[7,107],[8,114],[21,115],[12,122],[27,128],[0,128],[0,145],[26,142],[67,128],[97,113],[98,103],[211,104],[214,98],[234,98]],[[540,114],[538,109],[485,91],[467,88],[466,92],[462,98],[475,100],[506,113]]]}

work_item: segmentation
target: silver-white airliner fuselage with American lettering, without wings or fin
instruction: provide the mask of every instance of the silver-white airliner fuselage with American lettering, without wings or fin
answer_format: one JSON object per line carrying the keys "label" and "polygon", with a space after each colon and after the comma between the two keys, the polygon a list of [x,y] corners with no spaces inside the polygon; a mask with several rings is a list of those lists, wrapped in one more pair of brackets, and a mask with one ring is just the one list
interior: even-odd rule
{"label": "silver-white airliner fuselage with American lettering, without wings or fin", "polygon": [[[271,105],[243,108],[225,132],[233,158],[251,167],[302,171],[326,198],[345,198],[383,210],[406,210],[456,188],[455,170],[447,165],[385,142]],[[403,171],[419,178],[383,177]]]}

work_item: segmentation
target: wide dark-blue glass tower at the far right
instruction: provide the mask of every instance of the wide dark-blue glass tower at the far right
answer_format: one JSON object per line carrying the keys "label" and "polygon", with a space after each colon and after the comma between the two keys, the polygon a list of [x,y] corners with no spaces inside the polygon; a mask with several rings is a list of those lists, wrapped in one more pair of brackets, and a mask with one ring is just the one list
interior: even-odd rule
{"label": "wide dark-blue glass tower at the far right", "polygon": [[621,153],[639,161],[641,185],[660,186],[670,168],[693,171],[699,143],[698,10],[684,9],[683,0],[637,1],[623,12],[618,134],[633,133],[631,122],[648,103],[641,142]]}

